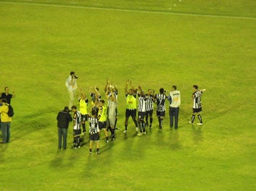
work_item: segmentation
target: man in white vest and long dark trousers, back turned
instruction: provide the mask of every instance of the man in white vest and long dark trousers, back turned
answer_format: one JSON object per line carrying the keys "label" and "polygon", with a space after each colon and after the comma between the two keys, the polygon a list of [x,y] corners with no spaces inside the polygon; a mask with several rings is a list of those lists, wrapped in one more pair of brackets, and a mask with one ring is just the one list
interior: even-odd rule
{"label": "man in white vest and long dark trousers, back turned", "polygon": [[172,85],[172,91],[168,96],[169,100],[169,120],[170,120],[170,128],[173,127],[173,118],[175,118],[175,129],[178,129],[178,119],[179,119],[179,111],[180,111],[180,91],[177,90],[176,85]]}

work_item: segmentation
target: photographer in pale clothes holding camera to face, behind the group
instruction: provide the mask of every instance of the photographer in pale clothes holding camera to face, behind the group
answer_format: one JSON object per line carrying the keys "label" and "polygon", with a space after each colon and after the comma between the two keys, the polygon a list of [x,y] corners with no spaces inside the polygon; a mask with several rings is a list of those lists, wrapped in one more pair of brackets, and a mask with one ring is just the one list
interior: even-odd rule
{"label": "photographer in pale clothes holding camera to face, behind the group", "polygon": [[66,88],[68,88],[69,91],[69,109],[73,106],[74,98],[76,95],[76,89],[77,89],[77,75],[73,71],[70,73],[69,78],[66,79]]}

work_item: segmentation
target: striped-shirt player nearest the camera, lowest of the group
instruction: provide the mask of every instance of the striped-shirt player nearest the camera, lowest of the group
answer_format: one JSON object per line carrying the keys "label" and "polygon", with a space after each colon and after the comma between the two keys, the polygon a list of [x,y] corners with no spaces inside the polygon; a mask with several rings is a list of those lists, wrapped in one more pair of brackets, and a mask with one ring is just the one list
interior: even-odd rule
{"label": "striped-shirt player nearest the camera, lowest of the group", "polygon": [[95,116],[95,111],[92,110],[92,116],[89,116],[89,154],[92,154],[92,142],[96,141],[96,147],[97,147],[97,152],[96,154],[100,154],[100,129],[98,126],[98,120],[97,117]]}

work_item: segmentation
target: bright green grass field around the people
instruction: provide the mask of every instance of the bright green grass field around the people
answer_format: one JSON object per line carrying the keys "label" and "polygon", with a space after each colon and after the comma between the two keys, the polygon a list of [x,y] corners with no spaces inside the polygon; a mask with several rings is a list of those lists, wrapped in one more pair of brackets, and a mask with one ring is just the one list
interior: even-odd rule
{"label": "bright green grass field around the people", "polygon": [[[256,190],[255,10],[252,0],[0,1],[0,85],[17,94],[0,190]],[[120,131],[99,156],[88,135],[57,151],[71,70],[87,95],[106,78],[119,88]],[[162,130],[154,116],[137,137],[130,119],[123,135],[128,78],[145,90],[177,85],[177,131],[167,114]],[[200,128],[188,124],[194,84],[207,89]]]}

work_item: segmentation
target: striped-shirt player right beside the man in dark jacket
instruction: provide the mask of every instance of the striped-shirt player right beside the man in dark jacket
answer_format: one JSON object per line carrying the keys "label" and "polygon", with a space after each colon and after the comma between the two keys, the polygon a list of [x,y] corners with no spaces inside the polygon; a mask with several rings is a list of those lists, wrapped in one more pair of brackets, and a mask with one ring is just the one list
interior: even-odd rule
{"label": "striped-shirt player right beside the man in dark jacket", "polygon": [[72,106],[71,109],[74,112],[73,138],[74,138],[74,149],[76,149],[76,148],[80,148],[81,113],[77,111],[76,106]]}

